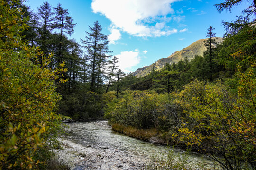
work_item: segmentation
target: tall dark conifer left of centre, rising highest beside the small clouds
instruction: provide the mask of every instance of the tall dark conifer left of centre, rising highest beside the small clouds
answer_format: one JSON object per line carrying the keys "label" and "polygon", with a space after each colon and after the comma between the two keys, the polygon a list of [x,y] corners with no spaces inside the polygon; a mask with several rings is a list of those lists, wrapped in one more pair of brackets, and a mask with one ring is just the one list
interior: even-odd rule
{"label": "tall dark conifer left of centre, rising highest beside the small clouds", "polygon": [[87,57],[91,67],[91,91],[96,91],[96,77],[100,74],[101,67],[103,66],[105,59],[108,57],[110,51],[108,49],[108,36],[101,33],[101,25],[98,21],[94,23],[93,27],[89,26],[91,32],[86,32],[85,40],[82,40],[84,48],[87,52]]}

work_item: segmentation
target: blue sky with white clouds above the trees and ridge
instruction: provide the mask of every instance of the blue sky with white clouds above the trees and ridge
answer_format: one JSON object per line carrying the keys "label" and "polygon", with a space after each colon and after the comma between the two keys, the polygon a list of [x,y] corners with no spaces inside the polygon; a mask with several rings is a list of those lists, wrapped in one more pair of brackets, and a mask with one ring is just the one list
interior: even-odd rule
{"label": "blue sky with white clouds above the trees and ridge", "polygon": [[[46,0],[26,2],[34,12]],[[206,38],[210,26],[217,37],[225,33],[222,21],[235,20],[247,1],[219,13],[214,4],[224,0],[47,0],[68,9],[77,25],[70,38],[85,38],[95,21],[108,35],[109,50],[119,59],[119,68],[128,73]]]}

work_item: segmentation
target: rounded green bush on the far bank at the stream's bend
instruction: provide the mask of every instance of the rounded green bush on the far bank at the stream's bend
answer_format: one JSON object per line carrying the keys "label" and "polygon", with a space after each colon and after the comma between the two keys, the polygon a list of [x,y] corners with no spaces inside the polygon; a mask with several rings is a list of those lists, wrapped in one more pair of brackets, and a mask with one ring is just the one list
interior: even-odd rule
{"label": "rounded green bush on the far bank at the stream's bend", "polygon": [[170,108],[168,95],[150,91],[125,91],[121,99],[114,99],[105,109],[105,117],[112,123],[131,125],[141,129],[152,127],[167,130],[169,119],[177,110]]}

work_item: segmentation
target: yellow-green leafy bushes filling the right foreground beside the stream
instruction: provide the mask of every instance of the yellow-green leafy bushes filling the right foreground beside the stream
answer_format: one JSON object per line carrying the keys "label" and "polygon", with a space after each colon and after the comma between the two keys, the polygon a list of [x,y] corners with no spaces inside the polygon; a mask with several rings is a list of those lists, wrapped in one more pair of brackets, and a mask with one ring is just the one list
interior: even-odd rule
{"label": "yellow-green leafy bushes filling the right foreground beside the stream", "polygon": [[247,163],[255,168],[253,72],[255,64],[246,73],[238,73],[238,95],[229,93],[220,83],[204,85],[197,80],[176,94],[176,102],[186,108],[183,111],[189,116],[178,129],[180,140],[218,161],[225,169],[243,169]]}

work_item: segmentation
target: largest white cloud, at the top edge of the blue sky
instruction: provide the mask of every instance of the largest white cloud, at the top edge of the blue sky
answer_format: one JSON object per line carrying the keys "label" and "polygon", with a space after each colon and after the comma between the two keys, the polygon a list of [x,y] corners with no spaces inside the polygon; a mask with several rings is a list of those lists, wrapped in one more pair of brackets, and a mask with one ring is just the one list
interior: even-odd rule
{"label": "largest white cloud, at the top edge of the blue sky", "polygon": [[180,0],[92,0],[91,8],[94,13],[105,15],[121,31],[134,36],[157,37],[175,33],[165,26],[170,20],[167,14],[174,13],[171,3],[175,1]]}

